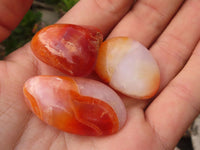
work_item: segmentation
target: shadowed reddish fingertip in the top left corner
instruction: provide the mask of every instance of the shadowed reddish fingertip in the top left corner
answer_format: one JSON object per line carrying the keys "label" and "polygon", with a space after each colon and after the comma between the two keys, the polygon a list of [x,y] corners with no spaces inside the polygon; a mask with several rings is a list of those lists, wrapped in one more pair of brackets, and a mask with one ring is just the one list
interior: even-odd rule
{"label": "shadowed reddish fingertip in the top left corner", "polygon": [[16,28],[31,4],[32,0],[0,0],[0,42]]}

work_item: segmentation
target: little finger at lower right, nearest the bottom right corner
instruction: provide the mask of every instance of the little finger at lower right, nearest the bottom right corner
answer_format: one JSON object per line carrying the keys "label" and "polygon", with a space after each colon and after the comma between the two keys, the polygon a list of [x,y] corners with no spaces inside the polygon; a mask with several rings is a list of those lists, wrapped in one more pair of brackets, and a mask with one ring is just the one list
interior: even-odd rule
{"label": "little finger at lower right, nearest the bottom right corner", "polygon": [[167,149],[175,146],[200,113],[200,41],[184,69],[146,110],[146,118]]}

